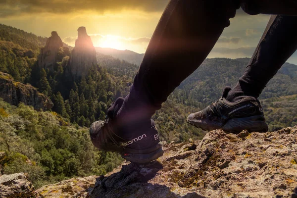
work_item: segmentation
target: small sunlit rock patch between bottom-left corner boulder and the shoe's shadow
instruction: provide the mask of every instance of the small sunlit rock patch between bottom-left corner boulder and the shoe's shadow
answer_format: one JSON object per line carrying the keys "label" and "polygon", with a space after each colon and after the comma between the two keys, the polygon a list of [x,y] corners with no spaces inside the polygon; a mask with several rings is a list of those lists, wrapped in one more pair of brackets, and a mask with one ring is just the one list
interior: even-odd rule
{"label": "small sunlit rock patch between bottom-left corner boulder and the shoe's shadow", "polygon": [[85,198],[94,187],[97,176],[72,178],[53,185],[43,186],[37,192],[45,198]]}

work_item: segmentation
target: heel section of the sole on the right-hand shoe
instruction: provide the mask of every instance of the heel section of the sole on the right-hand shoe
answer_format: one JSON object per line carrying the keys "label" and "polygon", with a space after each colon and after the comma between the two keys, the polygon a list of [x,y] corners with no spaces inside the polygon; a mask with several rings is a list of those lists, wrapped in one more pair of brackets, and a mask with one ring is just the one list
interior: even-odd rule
{"label": "heel section of the sole on the right-hand shoe", "polygon": [[223,125],[222,129],[231,133],[240,133],[243,130],[249,132],[267,132],[268,125],[262,115],[250,116],[246,118],[233,118]]}

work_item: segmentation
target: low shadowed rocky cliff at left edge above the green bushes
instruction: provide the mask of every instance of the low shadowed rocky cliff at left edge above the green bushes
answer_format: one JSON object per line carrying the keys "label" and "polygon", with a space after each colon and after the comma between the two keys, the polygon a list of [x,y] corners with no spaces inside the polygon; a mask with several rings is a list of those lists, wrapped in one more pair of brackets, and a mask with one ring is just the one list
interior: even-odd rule
{"label": "low shadowed rocky cliff at left edge above the green bushes", "polygon": [[31,85],[24,85],[15,82],[6,73],[0,72],[0,97],[13,105],[23,102],[33,106],[36,110],[49,110],[53,107],[52,101],[44,94],[41,94]]}

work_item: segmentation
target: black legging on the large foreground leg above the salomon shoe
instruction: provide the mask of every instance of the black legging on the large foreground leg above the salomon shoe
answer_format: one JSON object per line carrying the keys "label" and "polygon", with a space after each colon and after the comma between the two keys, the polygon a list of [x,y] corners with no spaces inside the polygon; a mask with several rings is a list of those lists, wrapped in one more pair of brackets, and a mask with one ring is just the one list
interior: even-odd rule
{"label": "black legging on the large foreground leg above the salomon shoe", "polygon": [[[150,115],[193,73],[230,25],[237,0],[170,0],[148,45],[124,106],[152,105]],[[125,108],[125,107],[124,107]]]}

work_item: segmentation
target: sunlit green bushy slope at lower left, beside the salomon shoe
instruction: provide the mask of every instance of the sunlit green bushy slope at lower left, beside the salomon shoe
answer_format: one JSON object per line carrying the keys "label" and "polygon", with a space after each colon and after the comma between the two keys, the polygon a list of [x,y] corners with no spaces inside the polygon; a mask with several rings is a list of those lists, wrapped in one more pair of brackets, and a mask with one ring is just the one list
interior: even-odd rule
{"label": "sunlit green bushy slope at lower left, beside the salomon shoe", "polygon": [[39,188],[74,176],[105,174],[121,161],[118,154],[96,149],[87,128],[56,112],[0,99],[1,174],[27,173]]}

